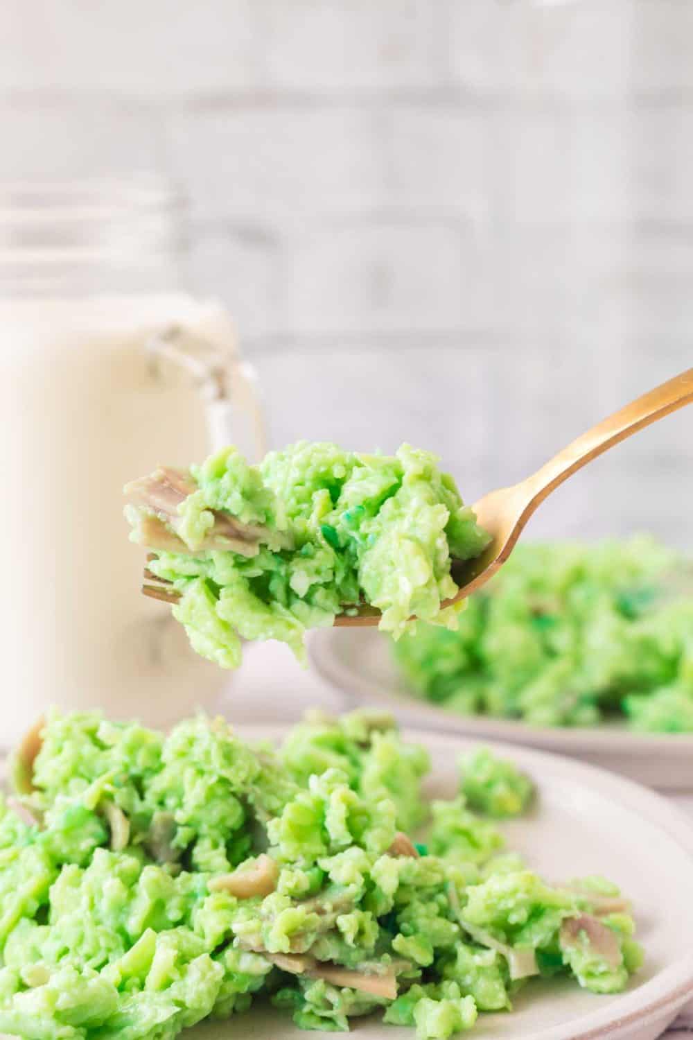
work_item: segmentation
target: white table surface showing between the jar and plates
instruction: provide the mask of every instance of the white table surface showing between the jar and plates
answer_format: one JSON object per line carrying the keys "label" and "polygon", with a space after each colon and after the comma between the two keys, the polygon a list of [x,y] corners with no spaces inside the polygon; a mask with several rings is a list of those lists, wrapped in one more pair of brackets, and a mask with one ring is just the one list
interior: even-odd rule
{"label": "white table surface showing between the jar and plates", "polygon": [[[244,648],[243,664],[230,680],[222,711],[239,725],[281,724],[296,722],[308,708],[317,706],[341,711],[349,705],[315,672],[303,670],[288,647],[266,643]],[[693,790],[669,797],[693,823]],[[693,1004],[665,1036],[689,1033],[693,1035]]]}

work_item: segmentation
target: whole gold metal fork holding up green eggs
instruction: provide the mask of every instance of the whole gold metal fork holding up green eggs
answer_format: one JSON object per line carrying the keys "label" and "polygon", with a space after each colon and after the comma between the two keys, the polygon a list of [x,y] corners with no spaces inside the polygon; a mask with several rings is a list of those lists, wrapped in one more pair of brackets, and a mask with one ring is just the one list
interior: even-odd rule
{"label": "whole gold metal fork holding up green eggs", "polygon": [[[577,473],[587,463],[612,448],[615,444],[643,430],[671,412],[693,401],[693,368],[674,375],[661,386],[631,401],[618,412],[598,422],[577,440],[571,441],[541,469],[519,484],[500,488],[480,498],[473,506],[477,520],[491,540],[474,560],[453,561],[452,576],[459,589],[453,599],[446,600],[450,606],[484,586],[506,562],[514,549],[527,521],[534,511],[564,480]],[[148,558],[152,558],[151,556]],[[169,582],[162,581],[148,569],[144,576],[149,581],[142,586],[146,596],[175,603],[179,594]],[[340,614],[336,625],[377,625],[380,612],[372,606],[358,606],[354,614]]]}

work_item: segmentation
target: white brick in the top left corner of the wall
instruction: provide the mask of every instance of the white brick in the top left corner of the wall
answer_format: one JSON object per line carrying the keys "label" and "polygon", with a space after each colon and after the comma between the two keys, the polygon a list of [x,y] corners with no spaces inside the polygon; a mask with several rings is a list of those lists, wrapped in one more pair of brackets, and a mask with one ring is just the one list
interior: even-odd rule
{"label": "white brick in the top left corner of the wall", "polygon": [[257,85],[252,0],[3,0],[5,90],[194,98]]}

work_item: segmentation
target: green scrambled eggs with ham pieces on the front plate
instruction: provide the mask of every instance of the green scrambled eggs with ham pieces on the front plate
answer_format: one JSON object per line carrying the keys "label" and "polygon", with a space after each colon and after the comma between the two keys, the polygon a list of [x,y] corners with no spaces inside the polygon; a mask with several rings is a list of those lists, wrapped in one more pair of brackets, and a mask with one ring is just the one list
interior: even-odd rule
{"label": "green scrambled eggs with ham pieces on the front plate", "polygon": [[[305,1029],[376,1011],[445,1040],[533,976],[622,989],[641,954],[615,886],[544,883],[463,794],[427,806],[428,769],[373,712],[278,750],[204,717],[53,716],[0,813],[0,1032],[171,1040],[262,994]],[[494,813],[531,794],[489,752],[461,771]]]}

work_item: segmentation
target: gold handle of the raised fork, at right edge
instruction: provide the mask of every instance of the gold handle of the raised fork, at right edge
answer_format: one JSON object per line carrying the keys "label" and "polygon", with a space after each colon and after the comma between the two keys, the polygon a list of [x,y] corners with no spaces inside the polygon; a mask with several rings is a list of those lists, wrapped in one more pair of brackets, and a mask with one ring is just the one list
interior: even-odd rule
{"label": "gold handle of the raised fork, at right edge", "polygon": [[534,512],[568,476],[608,451],[614,444],[643,430],[651,422],[693,401],[693,368],[674,375],[571,441],[526,482],[529,492],[527,516]]}

